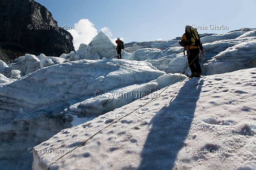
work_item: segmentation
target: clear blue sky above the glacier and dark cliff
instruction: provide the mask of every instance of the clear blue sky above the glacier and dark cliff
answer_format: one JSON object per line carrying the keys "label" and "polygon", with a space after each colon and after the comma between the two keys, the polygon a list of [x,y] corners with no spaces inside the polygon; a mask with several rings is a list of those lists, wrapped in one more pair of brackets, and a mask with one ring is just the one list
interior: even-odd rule
{"label": "clear blue sky above the glacier and dark cliff", "polygon": [[[98,32],[107,27],[112,33],[109,34],[111,38],[122,37],[125,43],[180,37],[186,24],[207,27],[199,29],[199,33],[220,34],[243,27],[256,28],[255,0],[35,1],[44,5],[59,25],[66,24],[74,28],[80,19],[88,19],[88,22],[93,23],[91,27]],[[224,25],[228,30],[211,30],[210,25]],[[80,27],[83,25],[80,24]],[[90,32],[87,31],[87,34]],[[74,36],[74,39],[79,37]],[[80,39],[86,39],[85,35]]]}

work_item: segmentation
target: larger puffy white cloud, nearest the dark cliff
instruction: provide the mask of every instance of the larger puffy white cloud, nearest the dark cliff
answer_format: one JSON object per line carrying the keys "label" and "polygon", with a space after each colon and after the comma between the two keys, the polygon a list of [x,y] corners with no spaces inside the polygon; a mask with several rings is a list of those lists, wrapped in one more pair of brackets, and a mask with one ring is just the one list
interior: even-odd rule
{"label": "larger puffy white cloud, nearest the dark cliff", "polygon": [[80,19],[75,23],[73,29],[67,31],[73,36],[75,50],[78,50],[82,43],[89,44],[92,38],[97,35],[97,29],[94,28],[94,24],[89,19]]}

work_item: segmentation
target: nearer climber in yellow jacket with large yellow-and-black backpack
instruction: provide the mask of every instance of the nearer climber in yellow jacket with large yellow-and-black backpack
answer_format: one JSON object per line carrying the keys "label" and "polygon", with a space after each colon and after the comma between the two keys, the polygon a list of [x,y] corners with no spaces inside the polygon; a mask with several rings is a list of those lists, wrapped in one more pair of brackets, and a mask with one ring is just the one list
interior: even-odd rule
{"label": "nearer climber in yellow jacket with large yellow-and-black backpack", "polygon": [[200,77],[202,70],[198,59],[200,55],[199,49],[201,49],[202,54],[204,54],[204,49],[196,28],[186,25],[185,33],[183,34],[179,43],[182,47],[184,47],[184,55],[185,50],[187,51],[189,68],[192,73],[189,77]]}

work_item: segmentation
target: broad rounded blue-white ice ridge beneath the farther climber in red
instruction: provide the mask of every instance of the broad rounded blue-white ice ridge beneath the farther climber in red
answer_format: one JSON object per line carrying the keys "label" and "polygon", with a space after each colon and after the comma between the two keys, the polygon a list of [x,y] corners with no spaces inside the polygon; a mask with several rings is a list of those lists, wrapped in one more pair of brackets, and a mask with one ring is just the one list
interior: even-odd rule
{"label": "broad rounded blue-white ice ridge beneath the farther climber in red", "polygon": [[[0,101],[5,104],[0,108],[18,111],[22,107],[25,112],[40,110],[42,106],[92,96],[96,90],[106,91],[136,84],[133,76],[143,83],[163,74],[144,61],[79,60],[55,64],[2,86]],[[10,88],[11,91],[8,90]],[[13,100],[16,102],[13,103]]]}

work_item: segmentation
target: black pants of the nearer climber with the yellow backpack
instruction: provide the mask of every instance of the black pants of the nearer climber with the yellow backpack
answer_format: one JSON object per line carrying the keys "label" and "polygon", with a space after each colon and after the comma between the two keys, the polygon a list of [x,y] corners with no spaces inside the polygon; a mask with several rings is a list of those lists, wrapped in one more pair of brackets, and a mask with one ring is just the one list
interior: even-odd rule
{"label": "black pants of the nearer climber with the yellow backpack", "polygon": [[201,66],[199,63],[199,48],[189,49],[187,51],[187,58],[189,63],[189,68],[191,70],[191,73],[202,73]]}

